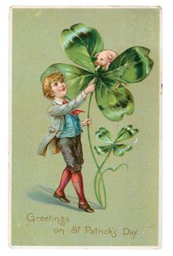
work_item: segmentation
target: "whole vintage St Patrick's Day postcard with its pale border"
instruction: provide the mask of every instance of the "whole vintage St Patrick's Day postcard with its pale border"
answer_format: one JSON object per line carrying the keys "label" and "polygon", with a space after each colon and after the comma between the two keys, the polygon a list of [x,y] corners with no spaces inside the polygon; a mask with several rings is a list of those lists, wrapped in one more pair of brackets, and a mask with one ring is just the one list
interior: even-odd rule
{"label": "whole vintage St Patrick's Day postcard with its pale border", "polygon": [[10,246],[161,247],[161,8],[11,7]]}

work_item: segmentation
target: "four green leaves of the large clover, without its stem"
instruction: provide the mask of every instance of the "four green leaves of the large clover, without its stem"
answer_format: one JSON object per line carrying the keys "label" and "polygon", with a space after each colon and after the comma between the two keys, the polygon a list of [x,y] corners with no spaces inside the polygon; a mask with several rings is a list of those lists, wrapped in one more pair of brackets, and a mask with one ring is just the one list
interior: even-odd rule
{"label": "four green leaves of the large clover, without its stem", "polygon": [[[103,39],[96,29],[86,24],[75,24],[62,31],[61,42],[67,56],[79,67],[53,64],[42,74],[41,82],[59,71],[65,76],[67,96],[74,98],[95,79],[95,99],[101,113],[111,121],[120,121],[125,114],[131,115],[134,100],[123,83],[141,82],[150,74],[153,65],[148,57],[150,50],[141,46],[131,47],[119,54],[107,71],[103,68],[96,71],[95,55],[104,49]],[[118,82],[122,84],[116,88]]]}

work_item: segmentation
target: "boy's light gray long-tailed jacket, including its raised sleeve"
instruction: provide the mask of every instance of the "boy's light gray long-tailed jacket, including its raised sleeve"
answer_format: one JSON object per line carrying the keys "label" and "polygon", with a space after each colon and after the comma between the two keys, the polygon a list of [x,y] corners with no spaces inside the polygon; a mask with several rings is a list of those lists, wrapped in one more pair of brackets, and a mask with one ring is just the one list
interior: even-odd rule
{"label": "boy's light gray long-tailed jacket, including its raised sleeve", "polygon": [[38,148],[38,154],[43,155],[44,157],[48,146],[53,154],[59,153],[59,149],[56,146],[56,140],[59,136],[59,132],[62,132],[65,125],[64,115],[76,110],[85,102],[83,93],[80,93],[73,100],[68,100],[69,102],[67,104],[58,104],[53,100],[51,106],[48,107],[51,126],[48,127],[48,135],[44,136]]}

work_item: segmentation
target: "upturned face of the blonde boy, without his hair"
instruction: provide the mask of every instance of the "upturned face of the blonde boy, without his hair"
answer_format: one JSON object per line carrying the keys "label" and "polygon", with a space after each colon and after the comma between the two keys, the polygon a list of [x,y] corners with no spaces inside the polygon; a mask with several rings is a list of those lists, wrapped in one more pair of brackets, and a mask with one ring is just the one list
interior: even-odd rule
{"label": "upturned face of the blonde boy, without his hair", "polygon": [[54,97],[64,98],[67,94],[67,86],[65,82],[61,82],[61,81],[52,82],[51,90],[54,92]]}

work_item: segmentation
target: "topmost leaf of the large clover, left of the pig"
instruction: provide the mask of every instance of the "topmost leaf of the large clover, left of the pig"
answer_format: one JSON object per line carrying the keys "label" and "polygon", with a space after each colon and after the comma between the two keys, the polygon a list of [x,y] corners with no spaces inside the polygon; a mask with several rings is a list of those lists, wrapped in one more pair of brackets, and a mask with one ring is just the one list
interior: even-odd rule
{"label": "topmost leaf of the large clover, left of the pig", "polygon": [[95,73],[95,54],[104,49],[103,40],[96,29],[85,24],[75,24],[62,31],[61,41],[70,60]]}

